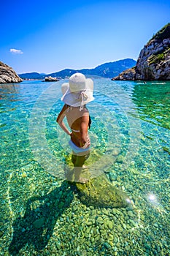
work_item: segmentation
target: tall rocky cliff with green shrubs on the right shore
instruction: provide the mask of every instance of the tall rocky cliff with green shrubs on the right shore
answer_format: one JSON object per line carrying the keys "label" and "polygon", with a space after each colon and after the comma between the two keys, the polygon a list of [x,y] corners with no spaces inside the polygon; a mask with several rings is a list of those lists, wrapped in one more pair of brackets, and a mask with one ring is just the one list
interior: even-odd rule
{"label": "tall rocky cliff with green shrubs on the right shore", "polygon": [[170,80],[170,23],[144,45],[135,67],[112,80]]}

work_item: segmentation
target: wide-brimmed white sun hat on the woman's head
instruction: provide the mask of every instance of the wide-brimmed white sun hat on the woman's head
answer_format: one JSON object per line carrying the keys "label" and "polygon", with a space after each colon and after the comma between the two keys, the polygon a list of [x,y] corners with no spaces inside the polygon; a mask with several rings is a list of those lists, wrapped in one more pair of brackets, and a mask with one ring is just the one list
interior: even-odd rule
{"label": "wide-brimmed white sun hat on the woman's head", "polygon": [[61,100],[72,107],[80,107],[80,111],[94,99],[93,80],[85,78],[81,73],[75,73],[69,78],[69,83],[63,83],[61,91]]}

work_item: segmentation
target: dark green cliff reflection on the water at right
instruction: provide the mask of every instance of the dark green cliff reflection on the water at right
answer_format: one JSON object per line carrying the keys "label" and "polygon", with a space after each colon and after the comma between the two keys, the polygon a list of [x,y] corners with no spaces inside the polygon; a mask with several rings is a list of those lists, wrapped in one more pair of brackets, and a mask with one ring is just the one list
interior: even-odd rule
{"label": "dark green cliff reflection on the water at right", "polygon": [[132,99],[140,118],[170,129],[170,82],[136,83]]}

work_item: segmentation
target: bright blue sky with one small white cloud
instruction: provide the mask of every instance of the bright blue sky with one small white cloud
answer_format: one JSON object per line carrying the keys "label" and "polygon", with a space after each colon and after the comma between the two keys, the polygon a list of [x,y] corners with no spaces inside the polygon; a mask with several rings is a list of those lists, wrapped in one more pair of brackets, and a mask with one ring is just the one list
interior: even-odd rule
{"label": "bright blue sky with one small white cloud", "polygon": [[169,18],[169,0],[2,1],[0,61],[50,73],[136,60]]}

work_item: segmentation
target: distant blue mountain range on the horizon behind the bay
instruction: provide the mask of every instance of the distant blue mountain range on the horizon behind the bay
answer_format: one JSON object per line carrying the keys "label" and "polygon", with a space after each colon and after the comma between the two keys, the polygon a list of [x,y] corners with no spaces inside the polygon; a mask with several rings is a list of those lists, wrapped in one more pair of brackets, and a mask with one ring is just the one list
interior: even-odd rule
{"label": "distant blue mountain range on the horizon behind the bay", "polygon": [[101,64],[94,69],[63,69],[59,72],[42,75],[36,72],[20,74],[20,78],[23,79],[44,79],[45,76],[52,76],[55,78],[67,78],[73,75],[75,72],[81,72],[84,75],[97,76],[103,78],[113,78],[123,72],[125,69],[129,69],[136,65],[134,59],[122,59],[120,61],[108,62]]}

